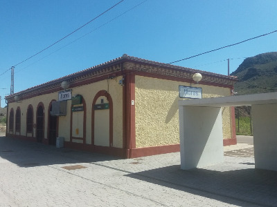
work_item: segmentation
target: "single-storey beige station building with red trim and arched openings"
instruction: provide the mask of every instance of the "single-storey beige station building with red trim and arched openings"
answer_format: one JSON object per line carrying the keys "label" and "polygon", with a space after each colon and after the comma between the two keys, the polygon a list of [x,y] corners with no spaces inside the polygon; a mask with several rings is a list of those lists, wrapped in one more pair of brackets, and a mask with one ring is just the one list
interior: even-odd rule
{"label": "single-storey beige station building with red trim and arched openings", "polygon": [[[224,97],[236,81],[123,55],[7,96],[6,136],[49,145],[63,137],[66,148],[124,158],[178,152],[179,86],[202,88],[202,98]],[[222,129],[222,144],[236,144],[232,107],[222,108]]]}

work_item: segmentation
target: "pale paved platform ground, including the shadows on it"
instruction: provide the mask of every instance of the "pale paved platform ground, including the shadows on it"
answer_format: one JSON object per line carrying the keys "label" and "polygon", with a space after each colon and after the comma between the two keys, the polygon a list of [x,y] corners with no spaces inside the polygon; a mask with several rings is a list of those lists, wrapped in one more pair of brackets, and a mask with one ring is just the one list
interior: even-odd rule
{"label": "pale paved platform ground, including the shadows on it", "polygon": [[0,137],[0,206],[277,206],[277,172],[224,159],[181,170],[179,152],[117,159]]}

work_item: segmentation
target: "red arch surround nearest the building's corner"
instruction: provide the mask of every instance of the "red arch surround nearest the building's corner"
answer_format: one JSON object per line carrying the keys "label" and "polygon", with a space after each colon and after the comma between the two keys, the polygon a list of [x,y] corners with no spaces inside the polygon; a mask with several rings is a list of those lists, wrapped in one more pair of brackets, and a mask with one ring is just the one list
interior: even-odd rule
{"label": "red arch surround nearest the building's corner", "polygon": [[94,112],[94,106],[96,104],[96,101],[99,97],[106,97],[109,101],[109,146],[111,147],[114,143],[113,137],[114,137],[114,107],[113,102],[111,99],[111,95],[107,92],[107,90],[100,90],[96,93],[92,106],[91,106],[91,144],[94,146],[94,126],[95,126],[95,112]]}

